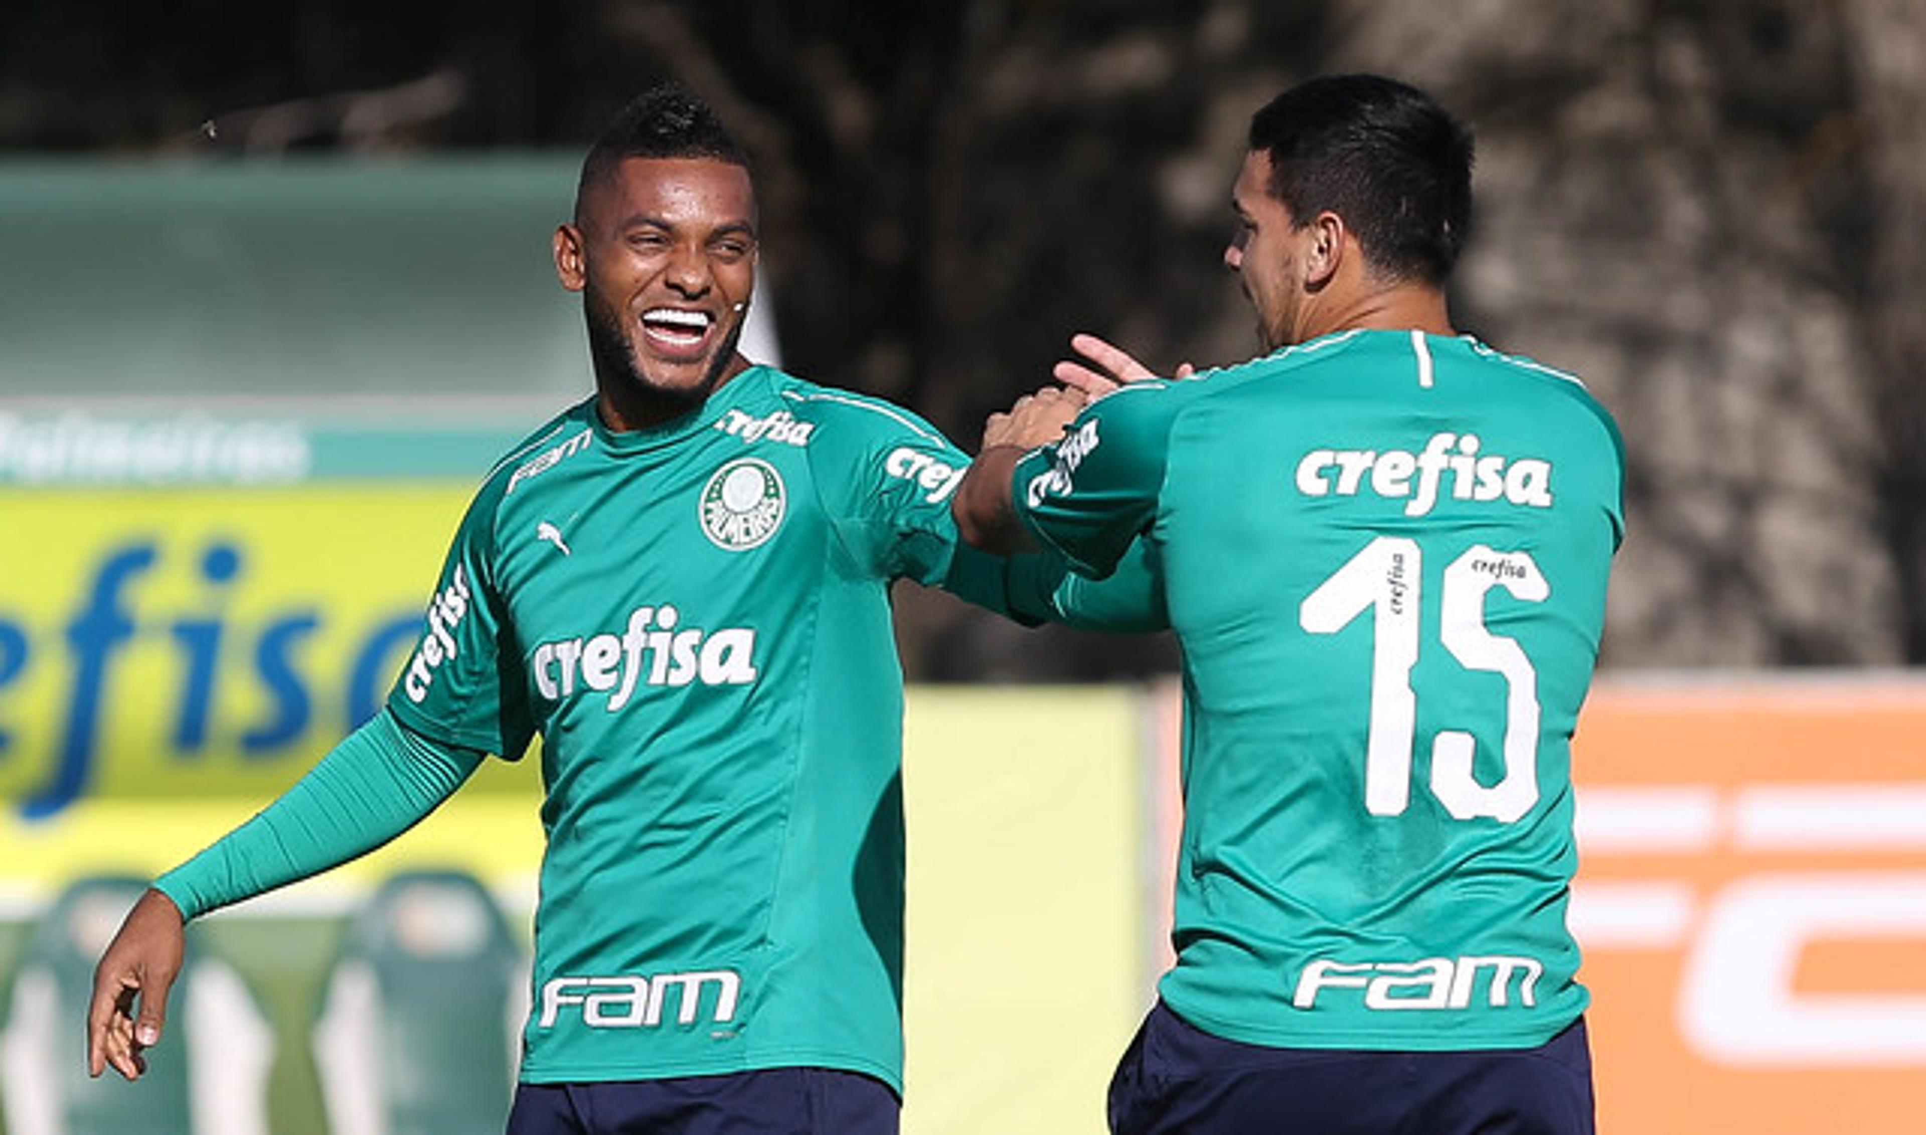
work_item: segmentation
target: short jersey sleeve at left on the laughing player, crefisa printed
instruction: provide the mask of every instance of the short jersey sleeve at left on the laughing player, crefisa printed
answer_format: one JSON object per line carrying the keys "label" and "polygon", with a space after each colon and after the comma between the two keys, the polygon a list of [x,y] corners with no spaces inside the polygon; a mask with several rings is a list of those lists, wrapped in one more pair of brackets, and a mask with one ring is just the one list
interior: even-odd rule
{"label": "short jersey sleeve at left on the laughing player, crefisa printed", "polygon": [[522,649],[495,588],[495,484],[462,516],[387,707],[426,738],[512,761],[535,728]]}

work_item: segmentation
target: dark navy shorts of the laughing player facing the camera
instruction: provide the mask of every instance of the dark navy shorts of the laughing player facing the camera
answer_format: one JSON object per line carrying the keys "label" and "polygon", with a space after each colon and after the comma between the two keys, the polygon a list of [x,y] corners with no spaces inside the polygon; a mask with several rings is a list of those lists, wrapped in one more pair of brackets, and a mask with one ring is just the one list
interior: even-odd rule
{"label": "dark navy shorts of the laughing player facing the camera", "polygon": [[508,1135],[896,1135],[890,1085],[832,1068],[524,1083]]}

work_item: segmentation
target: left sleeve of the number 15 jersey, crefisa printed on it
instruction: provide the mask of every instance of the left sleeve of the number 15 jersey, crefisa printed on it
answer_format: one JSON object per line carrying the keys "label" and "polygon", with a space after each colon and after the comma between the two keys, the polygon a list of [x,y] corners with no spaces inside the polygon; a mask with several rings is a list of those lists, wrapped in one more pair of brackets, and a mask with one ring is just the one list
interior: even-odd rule
{"label": "left sleeve of the number 15 jersey, crefisa printed on it", "polygon": [[1011,507],[1046,549],[1092,578],[1117,568],[1156,520],[1177,399],[1163,382],[1090,405],[1063,439],[1032,449],[1011,474]]}

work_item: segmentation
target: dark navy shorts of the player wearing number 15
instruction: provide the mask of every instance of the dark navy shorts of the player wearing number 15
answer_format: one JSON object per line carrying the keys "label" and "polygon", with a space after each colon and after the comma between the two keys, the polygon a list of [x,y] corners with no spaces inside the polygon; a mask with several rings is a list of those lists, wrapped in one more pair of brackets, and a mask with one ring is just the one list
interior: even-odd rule
{"label": "dark navy shorts of the player wearing number 15", "polygon": [[1109,1083],[1115,1135],[1593,1135],[1591,1046],[1575,1021],[1537,1048],[1267,1048],[1158,1002]]}

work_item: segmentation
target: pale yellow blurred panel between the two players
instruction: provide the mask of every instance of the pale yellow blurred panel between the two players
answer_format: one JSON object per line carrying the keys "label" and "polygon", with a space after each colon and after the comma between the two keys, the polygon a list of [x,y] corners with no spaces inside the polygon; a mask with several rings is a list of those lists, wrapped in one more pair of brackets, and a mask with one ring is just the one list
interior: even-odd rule
{"label": "pale yellow blurred panel between the two players", "polygon": [[1140,699],[911,690],[905,1135],[1098,1135],[1150,1006]]}

